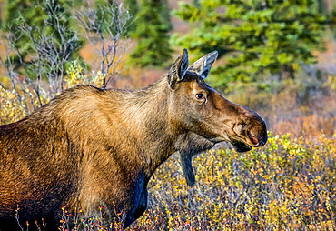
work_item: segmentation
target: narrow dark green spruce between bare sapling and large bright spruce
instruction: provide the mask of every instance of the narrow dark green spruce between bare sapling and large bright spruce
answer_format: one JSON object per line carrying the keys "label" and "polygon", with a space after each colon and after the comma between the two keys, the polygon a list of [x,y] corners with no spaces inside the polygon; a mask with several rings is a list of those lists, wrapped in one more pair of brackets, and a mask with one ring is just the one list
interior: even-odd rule
{"label": "narrow dark green spruce between bare sapling and large bright spruce", "polygon": [[142,0],[133,37],[138,45],[131,54],[131,62],[140,66],[163,66],[171,58],[168,32],[172,28],[167,18],[167,2]]}

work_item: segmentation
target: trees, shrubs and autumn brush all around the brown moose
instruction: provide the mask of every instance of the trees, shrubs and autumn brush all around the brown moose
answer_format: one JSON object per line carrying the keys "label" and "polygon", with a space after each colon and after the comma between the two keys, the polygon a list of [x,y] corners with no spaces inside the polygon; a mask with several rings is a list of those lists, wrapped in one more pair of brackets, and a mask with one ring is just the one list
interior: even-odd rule
{"label": "trees, shrubs and autumn brush all around the brown moose", "polygon": [[[218,50],[208,81],[266,120],[265,147],[238,154],[222,144],[195,157],[193,188],[172,156],[130,229],[336,229],[333,1],[2,0],[0,7],[0,124],[74,85],[153,83],[184,47],[194,60]],[[107,226],[63,212],[61,230],[124,229],[118,211]]]}

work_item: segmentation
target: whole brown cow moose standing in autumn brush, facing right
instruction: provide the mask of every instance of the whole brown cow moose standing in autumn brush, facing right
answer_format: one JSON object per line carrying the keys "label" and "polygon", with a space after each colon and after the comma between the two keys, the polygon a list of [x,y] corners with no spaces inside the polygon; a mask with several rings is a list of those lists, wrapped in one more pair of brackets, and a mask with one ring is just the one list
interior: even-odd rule
{"label": "whole brown cow moose standing in autumn brush, facing right", "polygon": [[[134,91],[78,85],[12,124],[0,126],[0,230],[44,218],[57,230],[62,207],[125,226],[143,215],[147,184],[175,152],[193,186],[192,157],[227,141],[239,152],[267,142],[261,116],[204,82],[214,51],[188,67],[188,51],[167,75]],[[115,210],[114,210],[115,209]],[[33,226],[29,226],[32,230]]]}

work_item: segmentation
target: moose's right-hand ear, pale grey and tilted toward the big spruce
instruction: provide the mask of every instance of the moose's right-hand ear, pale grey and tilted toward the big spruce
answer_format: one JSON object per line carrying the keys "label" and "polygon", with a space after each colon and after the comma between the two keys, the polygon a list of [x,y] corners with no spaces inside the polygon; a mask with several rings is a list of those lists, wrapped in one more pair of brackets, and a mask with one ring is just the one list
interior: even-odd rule
{"label": "moose's right-hand ear, pale grey and tilted toward the big spruce", "polygon": [[197,75],[200,75],[201,77],[203,77],[203,79],[205,79],[209,75],[212,64],[214,63],[214,61],[216,61],[217,57],[218,52],[212,51],[212,53],[209,53],[208,55],[205,55],[196,62],[194,62],[193,65],[188,68],[188,71],[193,71]]}

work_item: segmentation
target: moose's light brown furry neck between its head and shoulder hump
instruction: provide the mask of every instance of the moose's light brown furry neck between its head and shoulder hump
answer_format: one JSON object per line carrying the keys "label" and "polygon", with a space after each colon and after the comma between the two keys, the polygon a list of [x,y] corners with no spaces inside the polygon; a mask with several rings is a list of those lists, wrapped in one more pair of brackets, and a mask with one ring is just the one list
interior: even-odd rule
{"label": "moose's light brown furry neck between its head and shoulder hump", "polygon": [[163,77],[154,85],[135,90],[125,96],[121,115],[130,137],[138,146],[138,165],[145,175],[153,175],[155,169],[173,154],[177,136],[168,116],[169,88]]}

